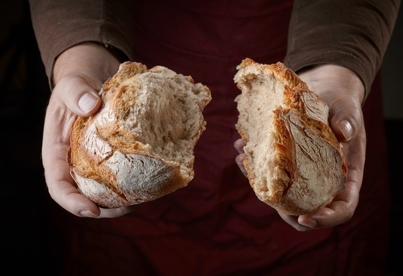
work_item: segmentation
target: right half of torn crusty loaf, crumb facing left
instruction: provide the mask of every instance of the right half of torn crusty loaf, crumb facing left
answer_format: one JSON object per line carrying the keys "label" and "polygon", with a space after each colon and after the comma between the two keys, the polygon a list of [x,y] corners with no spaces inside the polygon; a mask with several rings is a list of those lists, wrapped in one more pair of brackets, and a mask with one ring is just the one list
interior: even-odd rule
{"label": "right half of torn crusty loaf, crumb facing left", "polygon": [[303,215],[343,191],[347,166],[329,127],[329,108],[291,69],[247,58],[234,77],[236,129],[243,164],[258,198],[278,211]]}

